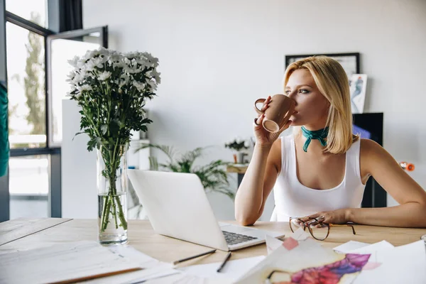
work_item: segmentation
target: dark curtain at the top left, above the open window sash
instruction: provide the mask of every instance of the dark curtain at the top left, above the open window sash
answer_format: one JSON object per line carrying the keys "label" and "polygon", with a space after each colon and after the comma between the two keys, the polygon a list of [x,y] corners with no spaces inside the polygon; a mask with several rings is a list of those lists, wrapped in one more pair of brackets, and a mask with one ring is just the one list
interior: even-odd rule
{"label": "dark curtain at the top left, above the open window sash", "polygon": [[82,28],[82,0],[59,0],[59,32]]}

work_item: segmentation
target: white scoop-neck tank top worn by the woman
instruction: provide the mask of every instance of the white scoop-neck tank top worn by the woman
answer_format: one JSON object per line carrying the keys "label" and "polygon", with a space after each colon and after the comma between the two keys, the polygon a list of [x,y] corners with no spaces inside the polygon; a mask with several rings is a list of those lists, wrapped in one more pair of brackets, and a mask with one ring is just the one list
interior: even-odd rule
{"label": "white scoop-neck tank top worn by the woman", "polygon": [[346,151],[345,174],[337,187],[314,190],[302,185],[296,173],[293,135],[281,138],[281,171],[273,188],[275,208],[271,221],[288,222],[289,217],[304,217],[321,211],[361,207],[365,185],[359,169],[360,140]]}

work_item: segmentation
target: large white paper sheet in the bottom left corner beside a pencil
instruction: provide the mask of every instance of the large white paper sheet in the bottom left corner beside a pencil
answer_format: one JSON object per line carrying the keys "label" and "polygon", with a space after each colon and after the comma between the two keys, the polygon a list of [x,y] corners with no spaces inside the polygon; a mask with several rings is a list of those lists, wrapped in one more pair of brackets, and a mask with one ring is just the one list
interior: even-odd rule
{"label": "large white paper sheet in the bottom left corner beside a pencil", "polygon": [[96,241],[79,241],[2,254],[0,283],[57,283],[132,269],[139,264]]}

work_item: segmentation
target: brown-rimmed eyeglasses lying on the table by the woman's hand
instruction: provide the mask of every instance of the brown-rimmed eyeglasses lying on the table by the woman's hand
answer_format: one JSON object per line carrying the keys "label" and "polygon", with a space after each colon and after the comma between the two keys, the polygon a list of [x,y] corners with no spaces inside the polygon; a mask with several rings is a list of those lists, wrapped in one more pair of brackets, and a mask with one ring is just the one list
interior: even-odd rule
{"label": "brown-rimmed eyeglasses lying on the table by the woman's hand", "polygon": [[303,231],[305,231],[307,228],[314,239],[318,241],[324,241],[324,239],[327,239],[327,236],[330,233],[330,227],[350,226],[352,228],[352,233],[356,235],[355,228],[351,224],[342,224],[342,225],[328,224],[328,223],[323,223],[322,220],[317,218],[309,218],[309,219],[310,219],[309,221],[303,221],[301,218],[290,217],[291,231],[293,231],[294,233],[300,227],[302,227]]}

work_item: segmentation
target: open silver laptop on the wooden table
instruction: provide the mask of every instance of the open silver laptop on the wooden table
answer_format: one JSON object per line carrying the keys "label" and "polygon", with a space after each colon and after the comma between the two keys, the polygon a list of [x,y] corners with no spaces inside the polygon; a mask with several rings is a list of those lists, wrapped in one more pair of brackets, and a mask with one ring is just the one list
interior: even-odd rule
{"label": "open silver laptop on the wooden table", "polygon": [[234,251],[265,242],[263,231],[218,223],[197,175],[152,170],[129,170],[129,179],[156,233],[222,251]]}

